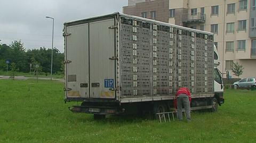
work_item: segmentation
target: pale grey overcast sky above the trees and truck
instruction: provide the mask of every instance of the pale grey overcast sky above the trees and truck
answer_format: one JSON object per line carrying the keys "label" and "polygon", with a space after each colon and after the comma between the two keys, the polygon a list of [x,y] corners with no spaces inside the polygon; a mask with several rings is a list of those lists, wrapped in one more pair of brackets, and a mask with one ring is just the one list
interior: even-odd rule
{"label": "pale grey overcast sky above the trees and truck", "polygon": [[21,40],[26,49],[54,47],[63,52],[63,23],[92,16],[122,12],[128,0],[0,0],[0,43]]}

